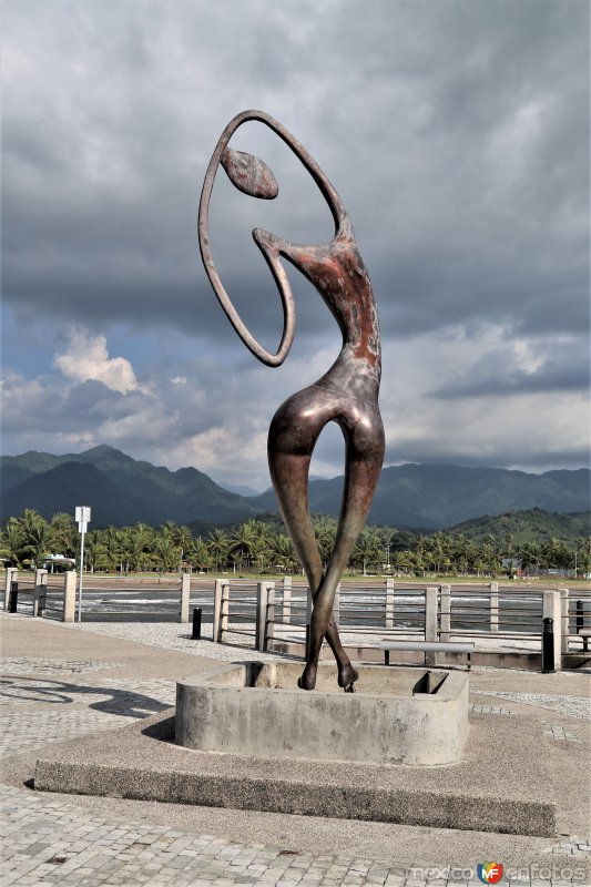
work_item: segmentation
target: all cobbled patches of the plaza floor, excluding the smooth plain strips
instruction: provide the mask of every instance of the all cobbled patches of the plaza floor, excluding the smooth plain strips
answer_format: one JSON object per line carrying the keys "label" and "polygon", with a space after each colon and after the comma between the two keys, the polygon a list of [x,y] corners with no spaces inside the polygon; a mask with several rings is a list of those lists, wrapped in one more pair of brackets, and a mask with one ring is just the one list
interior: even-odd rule
{"label": "all cobbled patches of the plaza floor, excluding the smooth plain strips", "polygon": [[[179,624],[90,623],[77,628],[212,660],[252,656],[252,651],[191,641],[187,628]],[[84,733],[112,730],[174,703],[173,679],[92,676],[98,669],[118,667],[116,662],[20,656],[8,660],[7,665],[7,676],[0,681],[0,752],[3,756]],[[60,674],[63,680],[59,679]],[[560,710],[578,720],[584,715],[581,703],[587,702],[544,694],[483,692]],[[472,705],[472,714],[517,716],[510,708],[480,703]],[[544,724],[543,730],[550,731],[552,738],[562,738],[558,726]],[[570,731],[560,730],[568,738]],[[455,868],[451,860],[439,867],[421,867],[403,866],[387,858],[374,860],[346,854],[303,853],[108,816],[60,796],[34,794],[24,788],[2,786],[2,795],[0,871],[6,887],[62,884],[161,887],[173,880],[177,887],[212,884],[220,887],[240,884],[475,887],[480,884],[473,869]],[[549,859],[546,868],[506,871],[502,884],[559,887],[585,883],[584,870],[578,865],[583,857],[591,856],[588,842],[578,836],[562,836],[560,843],[549,845],[543,853]]]}

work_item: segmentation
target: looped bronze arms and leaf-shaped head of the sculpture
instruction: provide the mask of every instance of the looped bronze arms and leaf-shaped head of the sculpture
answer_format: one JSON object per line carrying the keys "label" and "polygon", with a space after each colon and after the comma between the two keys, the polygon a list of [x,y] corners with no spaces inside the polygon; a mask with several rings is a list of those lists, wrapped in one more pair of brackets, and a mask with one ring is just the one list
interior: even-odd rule
{"label": "looped bronze arms and leaf-shaped head of the sculpture", "polygon": [[[210,198],[212,195],[213,184],[215,180],[215,174],[222,163],[228,175],[231,171],[228,166],[233,165],[233,169],[236,170],[237,163],[235,159],[238,157],[236,152],[230,151],[227,144],[230,139],[235,133],[235,131],[241,126],[243,123],[249,120],[257,120],[261,123],[269,126],[294,152],[294,154],[302,161],[306,170],[309,172],[316,184],[318,185],[323,196],[325,197],[330,212],[333,214],[333,218],[335,221],[335,234],[349,234],[353,236],[353,228],[350,226],[350,221],[345,210],[345,206],[335,191],[326,175],[323,173],[316,161],[310,156],[310,154],[306,151],[306,149],[299,144],[299,142],[294,139],[294,136],[282,126],[278,121],[274,120],[268,114],[265,114],[263,111],[243,111],[241,114],[237,114],[226,126],[222,135],[220,136],[220,141],[215,147],[215,151],[212,155],[210,161],[210,165],[207,167],[207,172],[205,174],[205,181],[203,183],[203,190],[201,194],[201,202],[200,202],[200,213],[198,213],[198,243],[201,255],[203,258],[203,264],[205,266],[205,271],[207,273],[207,277],[214,288],[215,295],[222,308],[224,309],[230,323],[244,341],[246,347],[257,357],[263,364],[267,364],[267,366],[281,366],[289,349],[292,347],[295,334],[295,303],[294,297],[292,294],[292,287],[289,286],[289,281],[283,267],[283,263],[279,256],[279,244],[283,243],[279,238],[275,238],[274,235],[263,235],[263,233],[257,232],[255,230],[253,232],[253,236],[259,249],[262,251],[265,261],[271,268],[275,283],[277,284],[277,288],[279,290],[279,295],[282,298],[283,304],[283,312],[284,312],[284,326],[283,326],[283,335],[282,340],[279,343],[279,347],[275,354],[271,354],[267,351],[266,348],[254,338],[251,332],[247,329],[245,324],[242,322],[238,313],[234,308],[221,279],[217,274],[214,261],[212,258],[211,249],[210,249],[210,238],[208,238],[208,230],[207,230],[207,222],[208,222],[208,208],[210,208]],[[244,156],[244,155],[242,155]],[[237,187],[245,191],[246,193],[251,193],[254,196],[262,196],[267,198],[273,198],[276,193],[276,184],[274,182],[273,175],[262,164],[261,162],[256,161],[256,159],[252,159],[255,165],[254,167],[254,179],[256,180],[257,176],[259,177],[259,187],[257,187],[257,183],[255,181],[255,185],[252,185],[251,182],[244,179],[245,185],[237,184],[236,179],[231,175],[232,181],[236,184]],[[242,174],[242,170],[238,170],[238,173]],[[265,180],[265,174],[268,173],[271,175],[271,183],[275,185],[273,187],[269,185],[268,179]],[[258,236],[259,235],[259,236]]]}

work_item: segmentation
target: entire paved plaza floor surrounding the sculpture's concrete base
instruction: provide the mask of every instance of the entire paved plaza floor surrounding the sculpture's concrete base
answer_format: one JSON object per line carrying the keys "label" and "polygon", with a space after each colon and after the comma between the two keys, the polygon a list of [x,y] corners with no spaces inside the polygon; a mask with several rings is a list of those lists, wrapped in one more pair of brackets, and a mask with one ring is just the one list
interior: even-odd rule
{"label": "entire paved plaza floor surrounding the sculpture's concrete base", "polygon": [[[172,623],[65,626],[2,613],[0,624],[6,887],[444,887],[480,884],[476,865],[488,859],[506,865],[503,884],[590,883],[588,832],[526,839],[35,793],[28,783],[49,743],[164,711],[174,704],[176,677],[215,661],[252,659],[253,651],[191,641],[186,625]],[[475,670],[470,717],[489,718],[491,730],[502,728],[506,717],[522,717],[534,731],[524,743],[540,754],[544,743],[568,753],[589,734],[589,679],[544,677]],[[532,721],[532,714],[539,717]],[[588,785],[588,775],[581,773],[581,781]],[[588,791],[583,796],[589,801]]]}

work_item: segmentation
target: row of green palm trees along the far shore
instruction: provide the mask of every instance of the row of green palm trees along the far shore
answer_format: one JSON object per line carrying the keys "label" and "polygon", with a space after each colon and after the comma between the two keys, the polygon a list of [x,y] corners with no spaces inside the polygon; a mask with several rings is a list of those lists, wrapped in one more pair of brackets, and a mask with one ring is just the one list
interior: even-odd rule
{"label": "row of green palm trees along the far shore", "polygon": [[[327,563],[335,542],[337,521],[315,517],[314,531],[320,557]],[[42,565],[52,552],[79,558],[79,534],[70,514],[50,521],[28,509],[10,518],[0,538],[0,557],[14,565]],[[91,530],[85,536],[84,569],[89,571],[230,571],[233,573],[297,573],[300,563],[289,537],[275,519],[248,520],[231,529],[212,530],[206,538],[172,521],[154,529],[133,527]],[[543,543],[512,546],[486,537],[476,542],[463,536],[436,532],[414,534],[385,527],[367,527],[349,560],[349,569],[364,574],[404,577],[502,575],[539,570],[591,571],[591,538],[574,542],[552,538]]]}

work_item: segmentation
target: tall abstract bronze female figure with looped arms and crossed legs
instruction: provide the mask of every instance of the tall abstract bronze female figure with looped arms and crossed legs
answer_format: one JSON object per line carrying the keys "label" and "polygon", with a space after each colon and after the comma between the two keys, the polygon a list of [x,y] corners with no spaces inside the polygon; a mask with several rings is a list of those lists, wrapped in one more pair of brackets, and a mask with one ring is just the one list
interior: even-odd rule
{"label": "tall abstract bronze female figure with looped arms and crossed legs", "polygon": [[[277,196],[277,183],[266,164],[227,146],[238,126],[251,120],[267,125],[292,149],[318,185],[335,221],[333,239],[316,246],[293,244],[258,228],[253,231],[283,303],[284,329],[276,354],[265,350],[241,320],[215,269],[207,235],[210,198],[220,163],[245,194],[264,200]],[[315,286],[343,333],[343,348],[330,369],[314,385],[289,397],[275,414],[268,434],[268,463],[283,519],[306,571],[314,602],[306,665],[298,686],[314,690],[326,638],[337,661],[338,684],[351,693],[358,674],[340,643],[333,605],[338,582],[369,511],[384,459],[384,428],[378,408],[381,375],[378,318],[353,225],[339,195],[303,145],[268,114],[244,111],[228,123],[210,162],[201,195],[198,239],[205,271],[224,312],[246,347],[264,364],[273,367],[283,364],[294,339],[294,299],[282,258]],[[323,570],[308,512],[308,470],[318,436],[330,421],[340,426],[345,437],[345,488],[335,547]]]}

